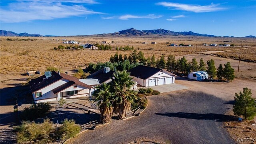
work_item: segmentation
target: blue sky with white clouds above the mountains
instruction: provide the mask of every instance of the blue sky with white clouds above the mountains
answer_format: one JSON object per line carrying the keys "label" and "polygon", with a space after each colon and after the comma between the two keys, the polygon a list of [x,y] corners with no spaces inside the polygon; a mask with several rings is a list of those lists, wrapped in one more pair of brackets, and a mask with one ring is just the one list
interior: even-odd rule
{"label": "blue sky with white clouds above the mountains", "polygon": [[0,29],[42,35],[138,30],[256,36],[255,0],[1,0]]}

